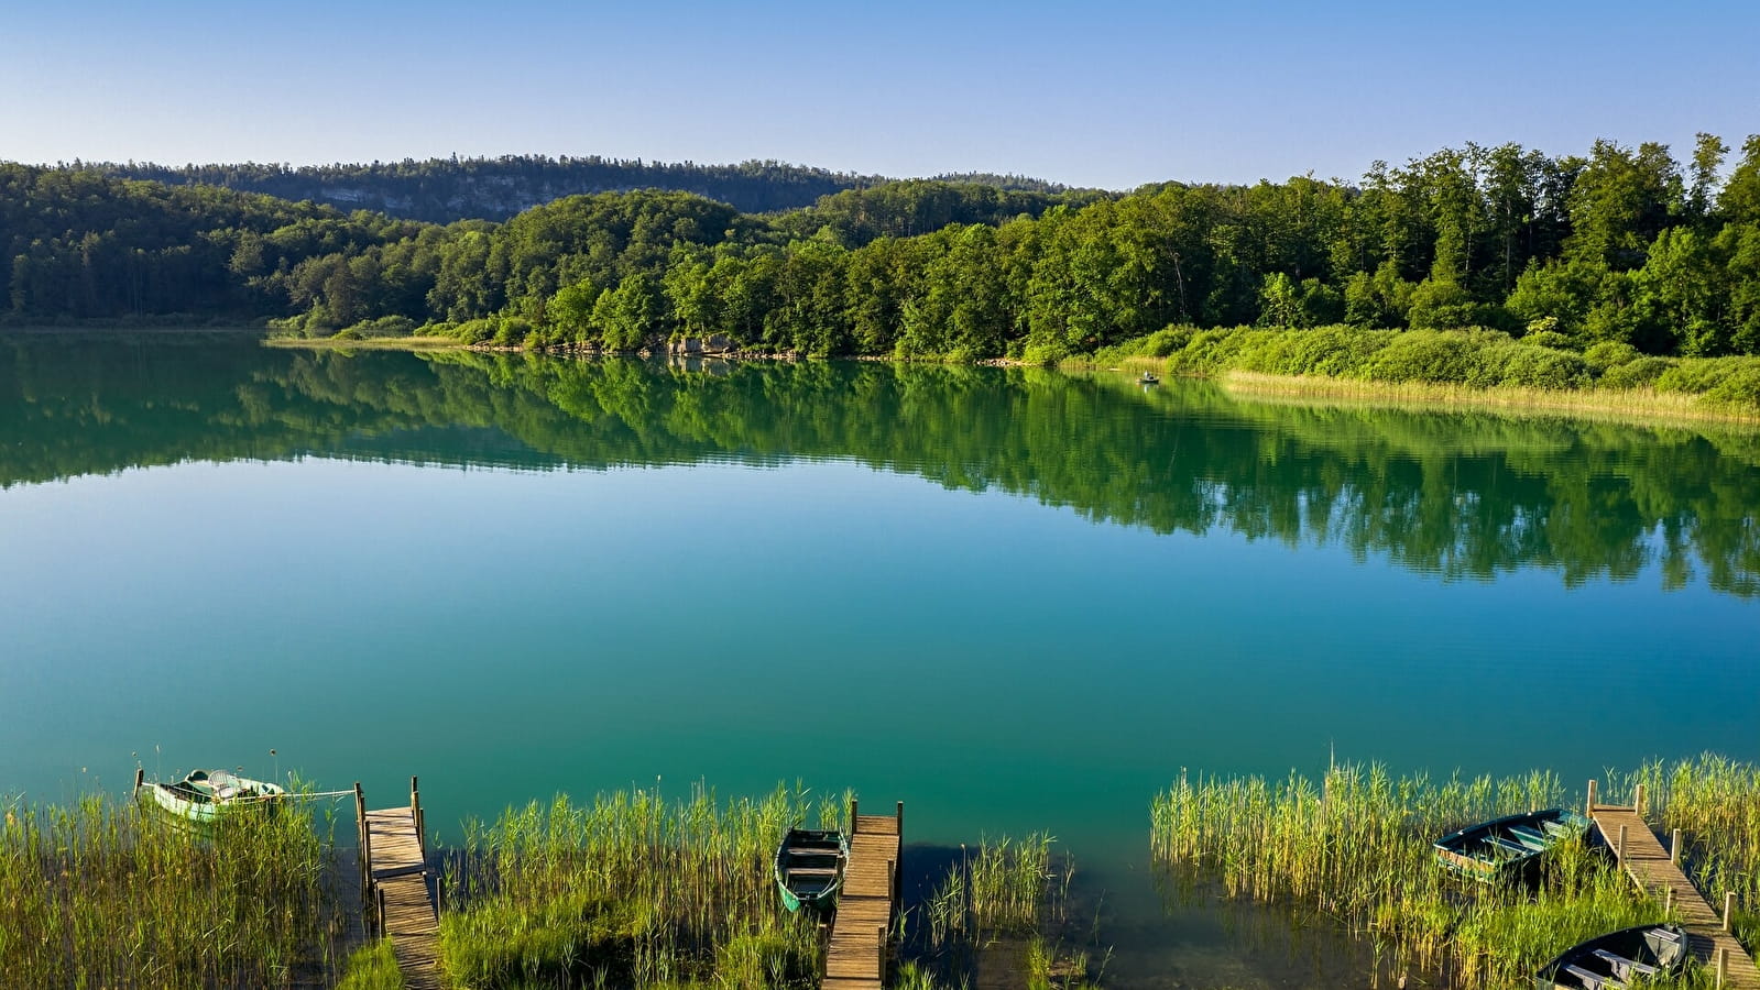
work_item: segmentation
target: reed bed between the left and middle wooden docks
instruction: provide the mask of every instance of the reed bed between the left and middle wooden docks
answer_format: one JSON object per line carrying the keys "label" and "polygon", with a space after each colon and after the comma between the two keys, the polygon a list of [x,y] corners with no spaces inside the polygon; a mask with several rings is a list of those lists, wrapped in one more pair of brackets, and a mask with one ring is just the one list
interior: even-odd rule
{"label": "reed bed between the left and middle wooden docks", "polygon": [[447,876],[442,958],[454,985],[810,986],[813,918],[781,911],[773,863],[799,823],[841,826],[845,797],[778,788],[722,804],[693,788],[558,797],[468,826]]}

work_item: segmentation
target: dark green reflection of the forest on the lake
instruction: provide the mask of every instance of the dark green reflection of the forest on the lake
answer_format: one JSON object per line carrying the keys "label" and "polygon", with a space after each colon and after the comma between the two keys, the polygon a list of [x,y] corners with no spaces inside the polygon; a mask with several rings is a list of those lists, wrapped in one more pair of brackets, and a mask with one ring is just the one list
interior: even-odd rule
{"label": "dark green reflection of the forest on the lake", "polygon": [[1540,566],[1584,582],[1661,564],[1670,587],[1697,575],[1760,594],[1760,441],[1742,431],[1255,403],[1031,368],[688,371],[183,338],[0,341],[12,440],[0,487],[306,454],[523,470],[829,457],[1158,533],[1339,545],[1447,577]]}

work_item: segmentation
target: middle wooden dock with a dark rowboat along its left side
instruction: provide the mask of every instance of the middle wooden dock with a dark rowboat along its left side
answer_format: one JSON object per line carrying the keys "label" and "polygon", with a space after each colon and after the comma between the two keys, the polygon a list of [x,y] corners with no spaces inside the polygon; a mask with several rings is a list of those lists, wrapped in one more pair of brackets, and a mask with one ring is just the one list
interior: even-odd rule
{"label": "middle wooden dock with a dark rowboat along its left side", "polygon": [[896,814],[859,814],[850,802],[850,858],[831,920],[820,990],[880,990],[885,985],[892,916],[898,911],[905,802]]}

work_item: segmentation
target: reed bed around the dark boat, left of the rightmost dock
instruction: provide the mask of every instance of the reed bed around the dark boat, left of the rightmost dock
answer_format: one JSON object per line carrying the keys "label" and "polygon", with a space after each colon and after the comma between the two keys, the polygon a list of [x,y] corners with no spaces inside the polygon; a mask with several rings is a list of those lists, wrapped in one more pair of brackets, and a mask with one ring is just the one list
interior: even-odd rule
{"label": "reed bed around the dark boat, left of the rightmost dock", "polygon": [[1545,772],[1433,783],[1339,765],[1318,784],[1181,774],[1151,805],[1151,849],[1188,890],[1214,883],[1371,937],[1390,972],[1517,986],[1579,941],[1663,920],[1661,904],[1582,846],[1554,851],[1533,893],[1461,881],[1433,860],[1438,835],[1559,805],[1575,800]]}

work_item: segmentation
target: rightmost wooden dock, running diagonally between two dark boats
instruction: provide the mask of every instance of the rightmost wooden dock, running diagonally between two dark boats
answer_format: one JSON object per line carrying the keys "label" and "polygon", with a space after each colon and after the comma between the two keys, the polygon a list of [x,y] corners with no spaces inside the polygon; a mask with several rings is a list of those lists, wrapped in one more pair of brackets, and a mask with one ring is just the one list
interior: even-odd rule
{"label": "rightmost wooden dock, running diagonally between two dark boats", "polygon": [[1595,802],[1595,781],[1589,781],[1589,818],[1602,830],[1602,839],[1614,851],[1619,865],[1637,881],[1639,888],[1670,906],[1686,928],[1688,943],[1698,962],[1711,965],[1720,976],[1718,985],[1727,990],[1760,990],[1760,969],[1755,960],[1735,941],[1728,927],[1732,900],[1727,897],[1723,914],[1705,902],[1705,897],[1681,872],[1677,853],[1681,833],[1672,839],[1672,853],[1661,848],[1661,841],[1644,821],[1644,788],[1637,791],[1637,804],[1612,805]]}

